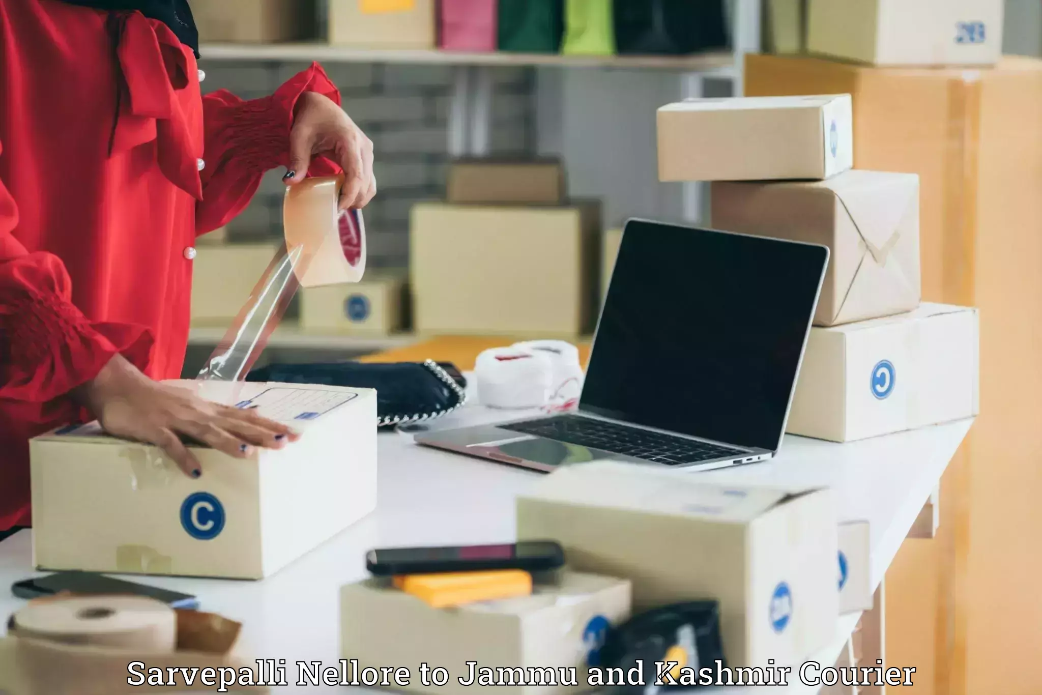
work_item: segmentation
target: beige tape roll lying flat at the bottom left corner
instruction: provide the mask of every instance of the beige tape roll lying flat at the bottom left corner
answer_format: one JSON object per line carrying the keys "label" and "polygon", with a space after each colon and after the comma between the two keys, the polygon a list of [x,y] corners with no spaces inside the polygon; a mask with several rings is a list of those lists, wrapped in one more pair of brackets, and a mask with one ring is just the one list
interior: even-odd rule
{"label": "beige tape roll lying flat at the bottom left corner", "polygon": [[18,637],[59,644],[168,653],[177,646],[177,614],[143,596],[76,596],[33,601],[15,614]]}

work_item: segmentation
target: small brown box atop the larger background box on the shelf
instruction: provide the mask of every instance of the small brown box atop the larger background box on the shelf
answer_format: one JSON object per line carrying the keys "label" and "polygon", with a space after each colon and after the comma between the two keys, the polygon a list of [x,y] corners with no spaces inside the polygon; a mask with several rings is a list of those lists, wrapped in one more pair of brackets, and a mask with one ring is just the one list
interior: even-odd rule
{"label": "small brown box atop the larger background box on the shelf", "polygon": [[560,162],[460,160],[449,165],[450,203],[560,205],[566,198]]}

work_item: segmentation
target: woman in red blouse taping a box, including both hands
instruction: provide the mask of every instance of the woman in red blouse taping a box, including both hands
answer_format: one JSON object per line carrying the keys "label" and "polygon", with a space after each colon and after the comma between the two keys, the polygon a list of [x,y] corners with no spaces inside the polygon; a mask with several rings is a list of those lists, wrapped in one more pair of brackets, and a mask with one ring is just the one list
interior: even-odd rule
{"label": "woman in red blouse taping a box, including both hands", "polygon": [[181,437],[243,457],[296,437],[157,381],[180,375],[196,237],[278,166],[343,169],[363,207],[372,143],[318,65],[203,97],[197,47],[185,0],[0,0],[0,536],[30,523],[28,440],[60,424],[98,418],[193,477]]}

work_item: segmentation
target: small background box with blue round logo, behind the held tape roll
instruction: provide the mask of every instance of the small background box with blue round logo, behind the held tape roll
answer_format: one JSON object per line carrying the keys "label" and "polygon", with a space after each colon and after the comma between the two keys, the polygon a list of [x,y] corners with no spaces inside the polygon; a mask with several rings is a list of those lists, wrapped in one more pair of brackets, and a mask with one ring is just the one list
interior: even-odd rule
{"label": "small background box with blue round logo, behind the held tape roll", "polygon": [[389,336],[403,328],[404,274],[369,273],[354,284],[300,290],[300,327]]}

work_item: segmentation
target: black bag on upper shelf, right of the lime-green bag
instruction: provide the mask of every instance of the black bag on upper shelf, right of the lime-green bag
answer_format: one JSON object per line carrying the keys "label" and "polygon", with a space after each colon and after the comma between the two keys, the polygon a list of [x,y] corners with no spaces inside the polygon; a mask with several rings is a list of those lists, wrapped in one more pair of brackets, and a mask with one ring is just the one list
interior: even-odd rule
{"label": "black bag on upper shelf, right of the lime-green bag", "polygon": [[620,54],[684,55],[727,46],[722,0],[615,0]]}

